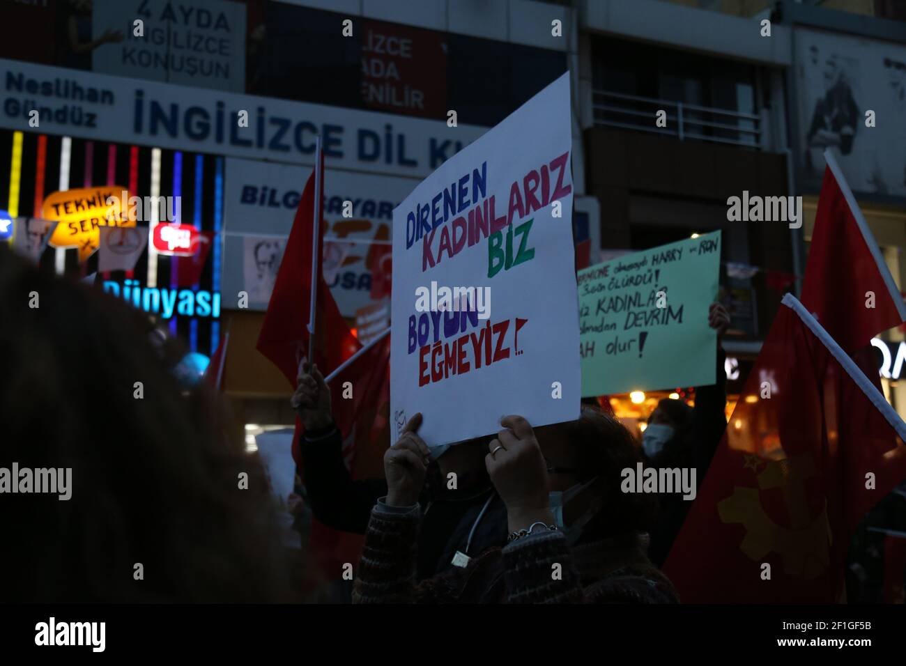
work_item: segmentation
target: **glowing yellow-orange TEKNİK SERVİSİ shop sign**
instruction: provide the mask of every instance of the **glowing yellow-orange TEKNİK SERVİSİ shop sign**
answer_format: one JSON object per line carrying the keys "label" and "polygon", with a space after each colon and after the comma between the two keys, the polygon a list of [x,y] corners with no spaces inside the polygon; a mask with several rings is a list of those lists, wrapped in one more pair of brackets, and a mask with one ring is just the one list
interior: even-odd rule
{"label": "glowing yellow-orange TEKN\u0130K SERV\u0130S\u0130 shop sign", "polygon": [[54,192],[44,199],[42,211],[44,219],[59,222],[50,244],[78,247],[79,261],[85,261],[101,244],[101,227],[135,227],[128,200],[129,192],[119,185]]}

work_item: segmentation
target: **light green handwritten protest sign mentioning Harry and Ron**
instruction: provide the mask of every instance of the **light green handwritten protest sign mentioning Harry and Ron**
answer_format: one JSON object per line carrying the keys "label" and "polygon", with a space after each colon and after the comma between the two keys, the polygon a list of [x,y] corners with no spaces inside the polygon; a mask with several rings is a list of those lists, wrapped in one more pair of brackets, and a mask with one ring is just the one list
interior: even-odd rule
{"label": "light green handwritten protest sign mentioning Harry and Ron", "polygon": [[582,395],[713,384],[720,232],[579,271]]}

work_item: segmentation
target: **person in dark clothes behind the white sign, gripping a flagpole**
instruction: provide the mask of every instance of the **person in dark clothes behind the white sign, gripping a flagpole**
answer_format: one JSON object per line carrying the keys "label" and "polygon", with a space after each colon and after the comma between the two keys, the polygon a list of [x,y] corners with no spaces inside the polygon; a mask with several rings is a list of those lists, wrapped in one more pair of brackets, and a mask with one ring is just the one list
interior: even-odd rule
{"label": "person in dark clothes behind the white sign, gripping a flagpole", "polygon": [[[304,362],[292,399],[304,425],[300,442],[302,474],[313,516],[343,532],[364,534],[383,478],[353,479],[343,460],[342,436],[333,422],[331,392],[317,366]],[[419,536],[419,580],[462,568],[492,545],[506,543],[506,507],[493,493],[485,468],[487,441],[473,439],[419,452],[427,478],[419,500],[425,520]],[[455,472],[455,488],[448,474]]]}

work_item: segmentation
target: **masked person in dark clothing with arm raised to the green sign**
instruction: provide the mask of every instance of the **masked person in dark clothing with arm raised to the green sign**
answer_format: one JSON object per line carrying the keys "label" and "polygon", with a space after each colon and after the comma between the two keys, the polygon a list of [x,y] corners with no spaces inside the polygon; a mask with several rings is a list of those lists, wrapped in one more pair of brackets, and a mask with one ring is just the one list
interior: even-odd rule
{"label": "masked person in dark clothing with arm raised to the green sign", "polygon": [[[689,468],[696,470],[696,484],[705,480],[708,466],[727,428],[726,373],[727,358],[720,340],[729,325],[727,309],[718,303],[708,309],[708,325],[718,332],[717,382],[695,390],[695,407],[684,401],[665,398],[651,412],[648,427],[641,436],[641,449],[646,468]],[[655,565],[663,565],[670,546],[679,534],[692,502],[681,493],[661,494],[660,514],[651,530],[649,555]]]}

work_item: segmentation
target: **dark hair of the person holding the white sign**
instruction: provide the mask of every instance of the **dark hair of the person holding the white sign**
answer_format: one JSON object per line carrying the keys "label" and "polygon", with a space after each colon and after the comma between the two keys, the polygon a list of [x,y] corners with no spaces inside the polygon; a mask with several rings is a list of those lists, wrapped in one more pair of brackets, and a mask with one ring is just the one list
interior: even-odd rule
{"label": "dark hair of the person holding the white sign", "polygon": [[559,427],[576,445],[580,482],[598,477],[603,491],[602,509],[583,530],[583,541],[651,529],[658,513],[656,497],[621,490],[622,470],[634,471],[641,461],[629,430],[610,414],[587,407],[577,420]]}

